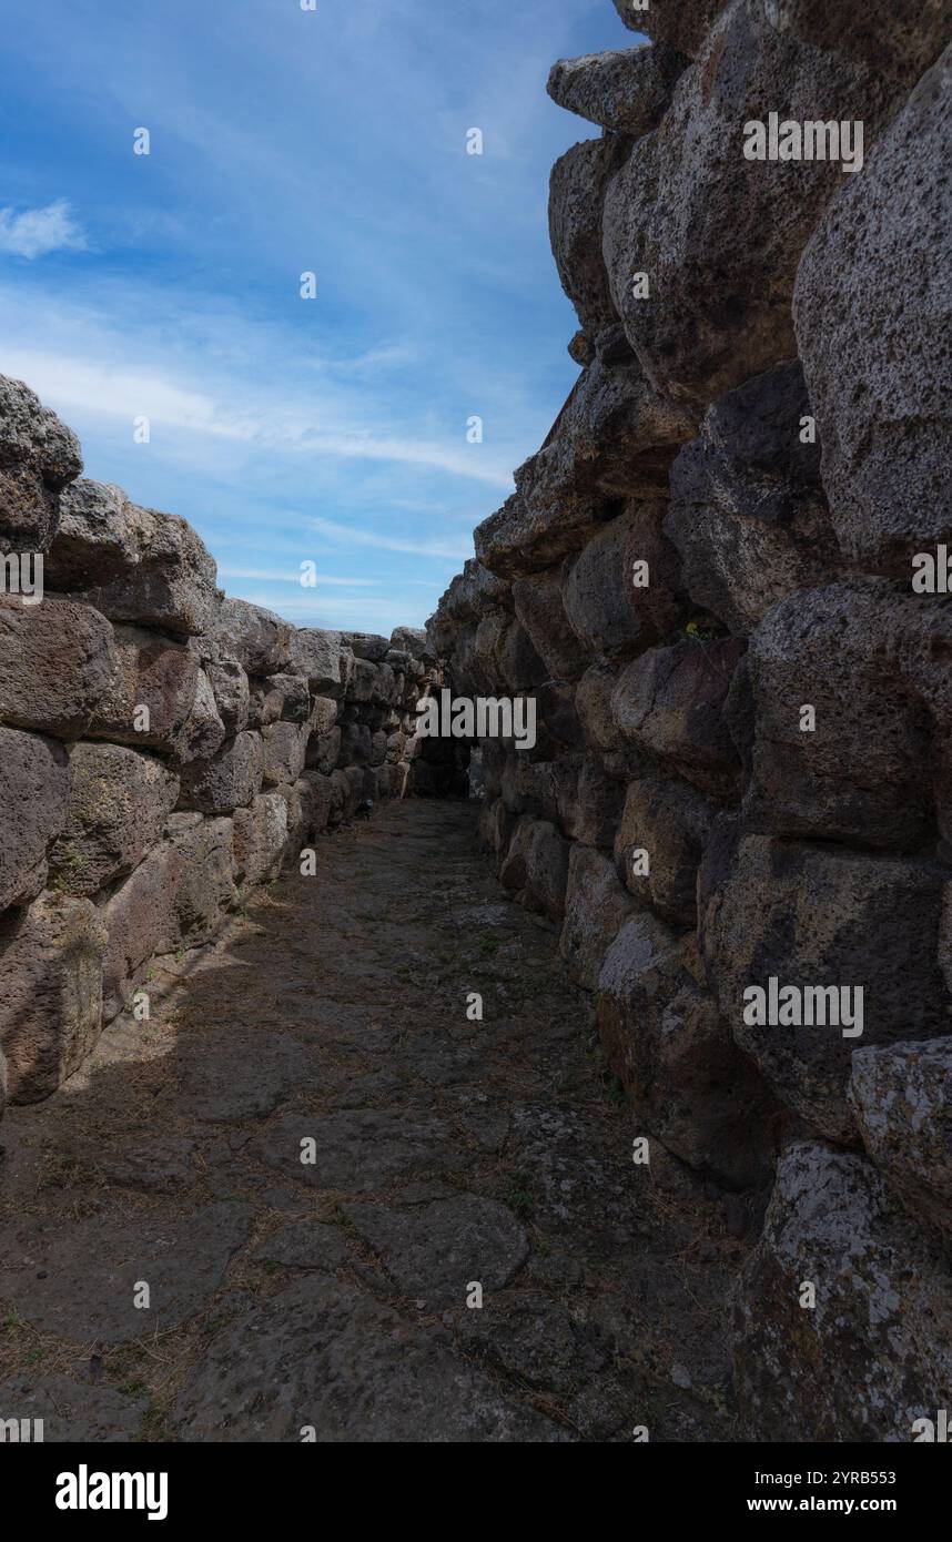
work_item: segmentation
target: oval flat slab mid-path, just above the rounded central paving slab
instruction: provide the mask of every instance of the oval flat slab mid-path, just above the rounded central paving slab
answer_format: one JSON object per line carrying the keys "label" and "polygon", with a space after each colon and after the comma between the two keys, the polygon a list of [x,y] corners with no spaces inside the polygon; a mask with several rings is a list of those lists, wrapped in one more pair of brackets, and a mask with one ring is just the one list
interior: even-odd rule
{"label": "oval flat slab mid-path, just above the rounded central paving slab", "polygon": [[[313,1140],[313,1163],[301,1161],[301,1141]],[[289,1113],[262,1130],[253,1155],[285,1178],[318,1189],[367,1194],[409,1173],[446,1170],[460,1155],[440,1119],[404,1109],[353,1109],[346,1113]]]}

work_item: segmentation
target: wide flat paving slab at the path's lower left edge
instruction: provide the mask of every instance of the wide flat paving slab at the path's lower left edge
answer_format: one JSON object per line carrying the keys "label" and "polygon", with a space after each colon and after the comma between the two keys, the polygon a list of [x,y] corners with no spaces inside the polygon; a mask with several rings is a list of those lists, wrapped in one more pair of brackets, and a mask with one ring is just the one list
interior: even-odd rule
{"label": "wide flat paving slab at the path's lower left edge", "polygon": [[[174,1328],[202,1309],[252,1229],[241,1204],[191,1215],[89,1215],[73,1226],[11,1227],[0,1263],[0,1298],[20,1317],[83,1343],[127,1343]],[[148,1308],[134,1295],[143,1281]]]}

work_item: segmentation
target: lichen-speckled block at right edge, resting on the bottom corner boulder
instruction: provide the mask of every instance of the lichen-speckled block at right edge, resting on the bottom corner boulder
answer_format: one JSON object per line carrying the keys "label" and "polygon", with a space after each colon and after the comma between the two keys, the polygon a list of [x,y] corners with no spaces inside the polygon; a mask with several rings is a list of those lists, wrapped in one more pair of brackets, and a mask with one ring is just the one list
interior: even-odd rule
{"label": "lichen-speckled block at right edge, resting on the bottom corner boulder", "polygon": [[952,1038],[858,1049],[850,1103],[886,1183],[943,1231],[952,1221]]}

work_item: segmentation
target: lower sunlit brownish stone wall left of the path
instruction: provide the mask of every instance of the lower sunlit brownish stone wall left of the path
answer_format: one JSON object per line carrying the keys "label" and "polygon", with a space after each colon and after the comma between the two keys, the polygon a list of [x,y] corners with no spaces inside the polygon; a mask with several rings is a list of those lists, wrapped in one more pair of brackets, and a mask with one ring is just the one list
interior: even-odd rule
{"label": "lower sunlit brownish stone wall left of the path", "polygon": [[225,598],[184,520],[80,470],[0,376],[0,1109],[54,1092],[156,954],[412,793],[438,680],[420,631],[296,629]]}

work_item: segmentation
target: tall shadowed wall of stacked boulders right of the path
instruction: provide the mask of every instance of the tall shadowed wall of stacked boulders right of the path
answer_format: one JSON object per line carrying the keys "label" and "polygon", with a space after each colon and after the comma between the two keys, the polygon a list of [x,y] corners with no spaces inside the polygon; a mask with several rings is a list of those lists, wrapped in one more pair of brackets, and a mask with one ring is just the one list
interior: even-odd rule
{"label": "tall shadowed wall of stacked boulders right of the path", "polygon": [[[768,1184],[751,1434],[909,1440],[952,1386],[952,611],[913,588],[952,543],[952,6],[616,6],[651,46],[549,80],[603,130],[551,180],[580,375],[430,645],[535,699],[481,831],[637,1127]],[[770,113],[861,120],[863,167],[747,159]],[[770,981],[861,988],[861,1035],[759,1025]]]}

